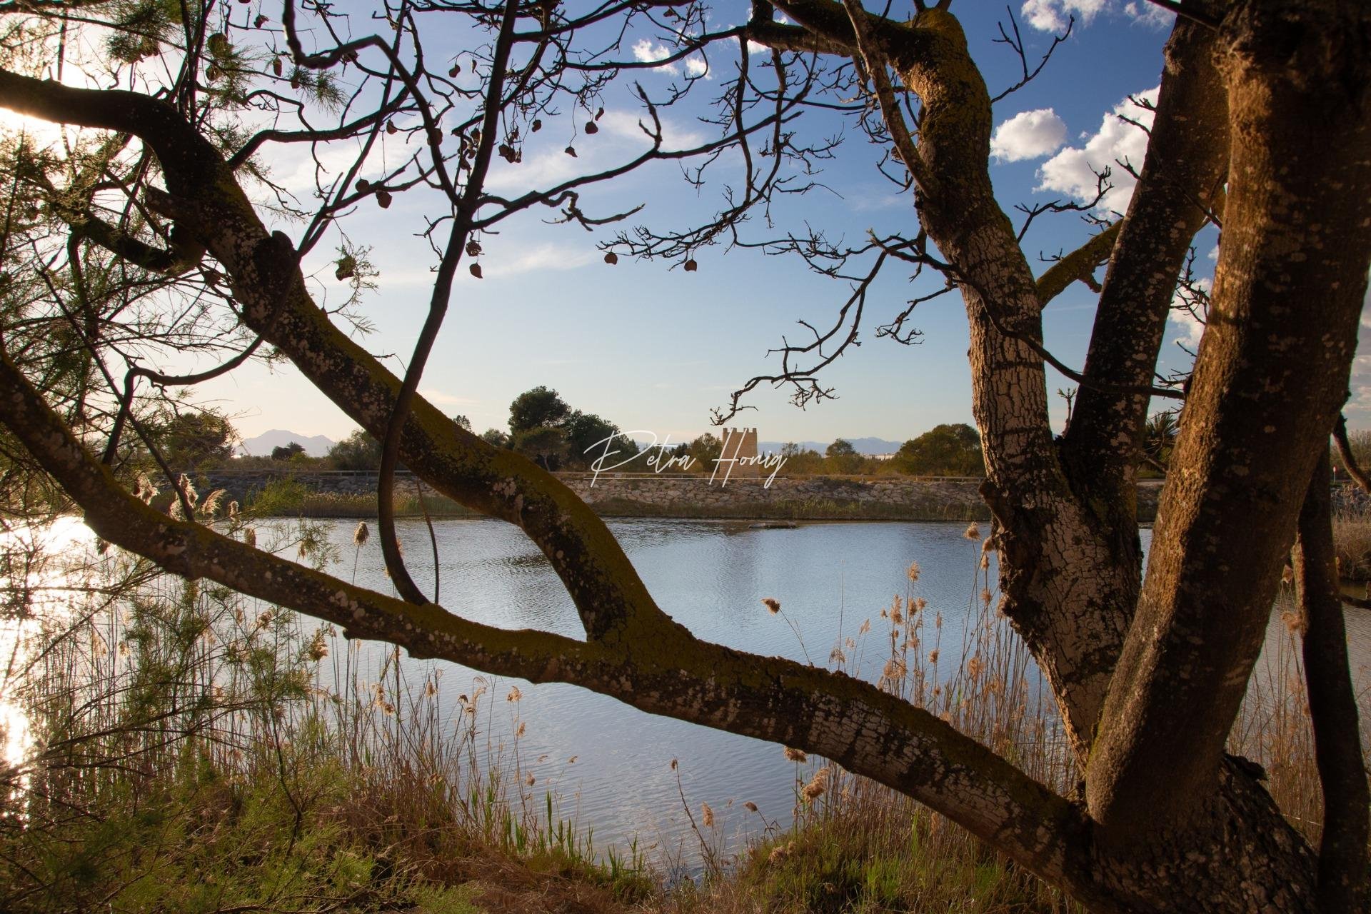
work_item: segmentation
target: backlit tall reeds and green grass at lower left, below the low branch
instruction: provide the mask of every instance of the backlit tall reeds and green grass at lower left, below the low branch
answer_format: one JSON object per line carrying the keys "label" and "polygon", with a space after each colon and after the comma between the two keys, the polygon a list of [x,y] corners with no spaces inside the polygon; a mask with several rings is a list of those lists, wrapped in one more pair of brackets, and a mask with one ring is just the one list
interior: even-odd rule
{"label": "backlit tall reeds and green grass at lower left, below the low branch", "polygon": [[[324,558],[299,530],[263,545]],[[483,706],[517,713],[517,691],[478,682],[450,721],[437,673],[411,682],[392,652],[330,656],[292,613],[106,571],[114,599],[36,615],[15,650],[30,744],[0,774],[0,910],[614,911],[651,891],[524,776],[517,719],[488,741]]]}

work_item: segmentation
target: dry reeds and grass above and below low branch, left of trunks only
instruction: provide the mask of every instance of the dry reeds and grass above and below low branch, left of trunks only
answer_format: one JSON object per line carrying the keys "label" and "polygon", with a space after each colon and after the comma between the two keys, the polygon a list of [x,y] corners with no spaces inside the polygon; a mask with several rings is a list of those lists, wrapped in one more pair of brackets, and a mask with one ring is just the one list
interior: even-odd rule
{"label": "dry reeds and grass above and below low branch, left of trunks only", "polygon": [[[858,633],[840,637],[829,663],[857,676],[880,669],[880,688],[928,708],[1067,791],[1075,762],[1050,691],[1023,641],[994,607],[988,554],[967,530],[975,586],[957,639],[942,613],[908,589]],[[781,751],[780,748],[776,750]],[[672,911],[1068,911],[1063,893],[914,800],[823,759],[795,761],[792,824],[771,824],[732,870],[684,887]]]}

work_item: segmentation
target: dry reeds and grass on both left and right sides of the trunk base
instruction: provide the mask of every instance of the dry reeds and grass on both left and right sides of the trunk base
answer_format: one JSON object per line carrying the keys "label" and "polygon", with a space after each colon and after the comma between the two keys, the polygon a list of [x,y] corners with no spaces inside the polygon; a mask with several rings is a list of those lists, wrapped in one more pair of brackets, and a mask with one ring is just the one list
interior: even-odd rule
{"label": "dry reeds and grass on both left and right sides of the trunk base", "polygon": [[[858,674],[861,662],[875,658],[883,689],[928,708],[1034,778],[1071,795],[1079,774],[1060,713],[1023,641],[993,608],[995,593],[978,536],[975,525],[968,528],[968,540],[982,548],[961,639],[945,643],[942,615],[917,595],[914,565],[909,591],[879,621],[864,622],[857,637],[835,644],[829,662]],[[1228,751],[1264,769],[1265,787],[1282,813],[1318,847],[1323,798],[1291,606],[1287,588],[1278,603],[1285,626],[1268,639]],[[1359,696],[1363,707],[1364,699]],[[1363,721],[1363,744],[1368,741]],[[927,807],[824,759],[784,751],[795,761],[792,822],[765,822],[764,837],[732,867],[714,867],[701,884],[680,887],[657,910],[1082,910]],[[749,813],[755,815],[755,808]],[[721,828],[705,830],[702,840],[718,841],[721,835]]]}

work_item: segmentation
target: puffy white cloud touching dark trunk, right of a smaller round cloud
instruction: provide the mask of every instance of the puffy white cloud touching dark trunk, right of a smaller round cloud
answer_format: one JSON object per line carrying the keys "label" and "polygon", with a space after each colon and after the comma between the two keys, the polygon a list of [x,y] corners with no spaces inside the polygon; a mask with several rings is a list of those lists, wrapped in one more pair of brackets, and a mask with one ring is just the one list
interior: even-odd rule
{"label": "puffy white cloud touching dark trunk, right of a smaller round cloud", "polygon": [[[1141,92],[1139,97],[1156,104],[1157,92],[1157,89],[1149,89]],[[1152,111],[1139,108],[1131,100],[1124,99],[1115,106],[1111,114],[1104,116],[1100,130],[1094,136],[1083,137],[1084,145],[1068,147],[1042,163],[1042,167],[1038,169],[1041,182],[1036,189],[1056,190],[1076,200],[1093,200],[1095,197],[1095,171],[1111,169],[1109,182],[1113,188],[1100,201],[1100,208],[1126,212],[1137,181],[1117,163],[1127,162],[1134,169],[1141,169],[1148,153],[1148,134],[1135,125],[1121,121],[1120,116],[1137,121],[1146,127],[1152,126]]]}

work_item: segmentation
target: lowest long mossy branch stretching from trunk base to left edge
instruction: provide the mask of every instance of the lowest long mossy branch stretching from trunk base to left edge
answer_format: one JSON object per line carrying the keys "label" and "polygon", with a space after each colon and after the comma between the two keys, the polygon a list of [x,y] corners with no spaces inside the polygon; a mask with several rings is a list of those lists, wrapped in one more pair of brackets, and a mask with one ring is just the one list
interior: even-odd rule
{"label": "lowest long mossy branch stretching from trunk base to left edge", "polygon": [[1087,899],[1098,893],[1087,824],[1071,803],[869,682],[698,641],[680,626],[646,643],[574,641],[480,625],[436,604],[411,606],[345,584],[154,511],[119,488],[8,355],[0,359],[0,384],[10,391],[0,421],[81,504],[92,529],[167,570],[335,622],[350,637],[399,644],[413,656],[572,682],[653,714],[821,754],[939,810],[1034,873]]}

